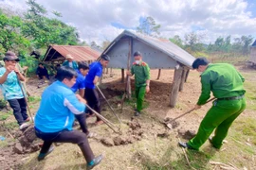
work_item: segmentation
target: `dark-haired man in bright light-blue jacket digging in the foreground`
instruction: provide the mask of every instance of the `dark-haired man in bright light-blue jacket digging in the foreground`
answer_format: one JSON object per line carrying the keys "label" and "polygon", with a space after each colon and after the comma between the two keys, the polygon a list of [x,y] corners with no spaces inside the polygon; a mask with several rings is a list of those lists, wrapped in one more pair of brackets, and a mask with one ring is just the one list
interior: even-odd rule
{"label": "dark-haired man in bright light-blue jacket digging in the foreground", "polygon": [[35,116],[36,136],[44,141],[38,161],[43,161],[53,150],[52,143],[78,144],[87,169],[99,164],[102,156],[95,157],[87,137],[73,129],[74,114],[84,114],[86,101],[71,91],[76,82],[77,73],[70,67],[61,67],[57,72],[57,81],[46,88],[42,94],[39,110]]}

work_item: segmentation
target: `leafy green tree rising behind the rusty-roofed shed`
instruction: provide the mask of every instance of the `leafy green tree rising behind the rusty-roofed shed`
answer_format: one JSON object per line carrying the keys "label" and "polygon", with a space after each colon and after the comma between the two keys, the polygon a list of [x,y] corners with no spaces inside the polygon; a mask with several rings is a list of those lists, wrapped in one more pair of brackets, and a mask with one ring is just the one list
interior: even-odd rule
{"label": "leafy green tree rising behind the rusty-roofed shed", "polygon": [[[50,43],[77,44],[79,34],[73,26],[67,26],[62,21],[46,17],[47,10],[37,4],[35,0],[28,0],[29,6],[25,15],[25,24],[22,27],[23,34],[31,40],[36,49],[46,47]],[[56,17],[61,13],[53,11]]]}

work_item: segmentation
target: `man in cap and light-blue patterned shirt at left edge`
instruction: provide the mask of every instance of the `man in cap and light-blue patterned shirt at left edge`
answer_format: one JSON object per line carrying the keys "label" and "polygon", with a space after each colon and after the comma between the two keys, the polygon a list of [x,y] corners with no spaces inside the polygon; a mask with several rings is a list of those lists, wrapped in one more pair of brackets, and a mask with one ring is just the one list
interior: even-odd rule
{"label": "man in cap and light-blue patterned shirt at left edge", "polygon": [[8,51],[3,59],[5,67],[0,68],[0,87],[4,97],[9,102],[13,110],[13,115],[17,120],[20,129],[28,127],[30,119],[27,116],[27,101],[24,96],[19,81],[25,81],[25,77],[15,67],[19,61],[15,53]]}

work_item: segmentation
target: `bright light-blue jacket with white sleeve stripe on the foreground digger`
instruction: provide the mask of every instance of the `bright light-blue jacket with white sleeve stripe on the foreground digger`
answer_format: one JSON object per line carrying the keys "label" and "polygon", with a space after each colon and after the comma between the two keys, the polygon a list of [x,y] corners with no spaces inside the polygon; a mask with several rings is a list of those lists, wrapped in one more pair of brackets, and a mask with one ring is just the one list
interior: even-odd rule
{"label": "bright light-blue jacket with white sleeve stripe on the foreground digger", "polygon": [[35,127],[45,133],[72,130],[74,114],[82,114],[85,105],[63,82],[57,80],[42,94],[39,110],[35,116]]}

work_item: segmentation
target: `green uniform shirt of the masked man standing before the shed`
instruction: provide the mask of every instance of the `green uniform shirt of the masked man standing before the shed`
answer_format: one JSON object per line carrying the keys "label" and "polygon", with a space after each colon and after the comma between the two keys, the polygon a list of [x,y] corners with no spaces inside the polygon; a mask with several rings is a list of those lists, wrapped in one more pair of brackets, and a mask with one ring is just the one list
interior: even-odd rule
{"label": "green uniform shirt of the masked man standing before the shed", "polygon": [[141,62],[141,64],[133,63],[131,68],[131,74],[135,75],[136,86],[146,86],[146,80],[150,79],[150,68],[146,62]]}

